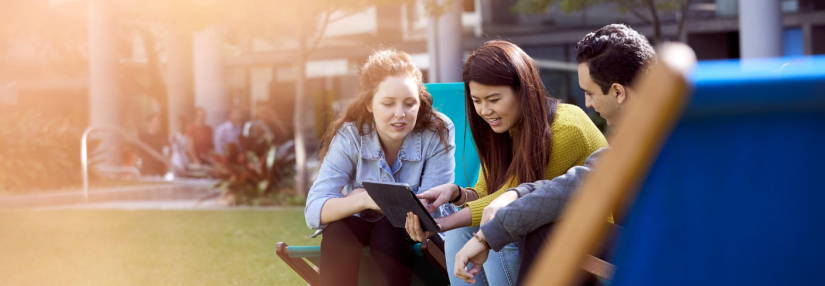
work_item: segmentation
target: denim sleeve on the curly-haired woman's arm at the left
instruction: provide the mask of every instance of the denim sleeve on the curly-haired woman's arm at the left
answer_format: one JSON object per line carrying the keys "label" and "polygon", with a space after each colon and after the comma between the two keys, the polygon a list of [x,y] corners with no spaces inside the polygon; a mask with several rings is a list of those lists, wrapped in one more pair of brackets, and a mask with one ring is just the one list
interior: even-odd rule
{"label": "denim sleeve on the curly-haired woman's arm at the left", "polygon": [[307,196],[304,217],[307,226],[312,229],[322,229],[321,209],[324,203],[332,198],[342,198],[344,187],[351,180],[355,171],[354,147],[352,138],[345,132],[339,131],[330,142],[329,151],[318,171],[318,179],[312,184]]}

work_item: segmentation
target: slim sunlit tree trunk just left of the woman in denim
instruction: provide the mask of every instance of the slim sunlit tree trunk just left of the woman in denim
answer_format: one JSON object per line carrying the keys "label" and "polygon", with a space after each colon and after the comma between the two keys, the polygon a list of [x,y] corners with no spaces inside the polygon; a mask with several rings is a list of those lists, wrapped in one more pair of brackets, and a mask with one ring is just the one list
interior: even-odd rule
{"label": "slim sunlit tree trunk just left of the woman in denim", "polygon": [[295,113],[293,115],[293,125],[295,128],[295,191],[306,197],[308,193],[309,178],[306,171],[306,120],[304,119],[305,110],[308,109],[306,104],[306,50],[307,50],[307,36],[304,25],[299,25],[300,31],[298,34],[298,56],[295,62]]}

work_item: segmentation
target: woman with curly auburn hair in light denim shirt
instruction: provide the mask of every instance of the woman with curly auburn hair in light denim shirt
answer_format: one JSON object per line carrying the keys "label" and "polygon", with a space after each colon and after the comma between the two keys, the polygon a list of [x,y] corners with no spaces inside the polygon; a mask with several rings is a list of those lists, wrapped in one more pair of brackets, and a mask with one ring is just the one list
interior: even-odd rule
{"label": "woman with curly auburn hair in light denim shirt", "polygon": [[[362,182],[406,183],[416,193],[453,182],[455,128],[433,109],[421,71],[404,52],[374,52],[359,81],[324,135],[304,210],[307,225],[324,233],[321,285],[357,285],[366,245],[374,285],[410,285],[415,242],[380,214]],[[454,211],[444,205],[434,216]]]}

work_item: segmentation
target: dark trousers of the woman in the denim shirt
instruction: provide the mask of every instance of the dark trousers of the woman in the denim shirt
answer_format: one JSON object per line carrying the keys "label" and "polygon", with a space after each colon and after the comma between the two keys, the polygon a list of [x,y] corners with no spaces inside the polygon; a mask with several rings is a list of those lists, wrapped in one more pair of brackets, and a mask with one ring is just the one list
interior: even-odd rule
{"label": "dark trousers of the woman in the denim shirt", "polygon": [[321,239],[321,285],[358,285],[361,253],[367,245],[373,285],[410,285],[413,244],[407,231],[393,227],[387,218],[332,222]]}

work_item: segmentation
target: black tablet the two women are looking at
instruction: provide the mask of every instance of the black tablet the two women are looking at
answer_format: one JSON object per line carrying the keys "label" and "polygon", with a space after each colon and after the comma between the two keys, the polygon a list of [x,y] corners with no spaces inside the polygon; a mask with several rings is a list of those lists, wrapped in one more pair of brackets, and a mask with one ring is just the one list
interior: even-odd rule
{"label": "black tablet the two women are looking at", "polygon": [[392,226],[405,228],[407,213],[412,212],[421,221],[421,228],[432,233],[440,228],[427,208],[415,197],[410,186],[397,183],[363,182],[364,188],[373,201],[381,208]]}

